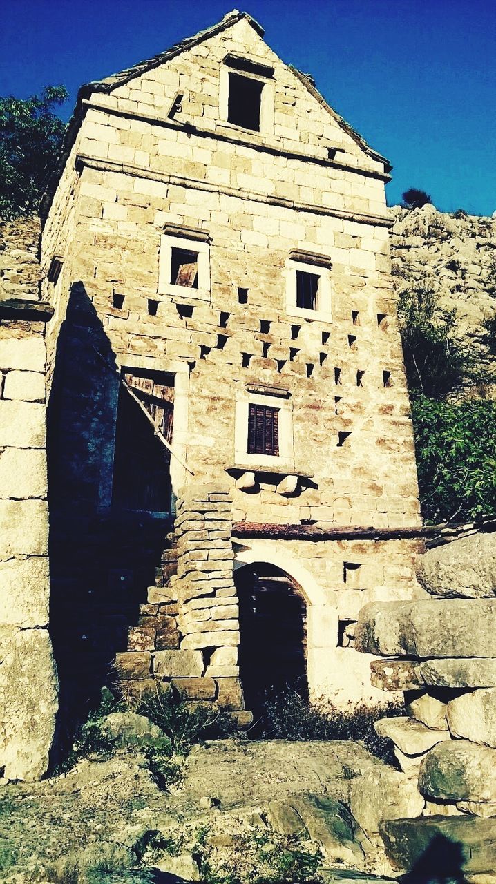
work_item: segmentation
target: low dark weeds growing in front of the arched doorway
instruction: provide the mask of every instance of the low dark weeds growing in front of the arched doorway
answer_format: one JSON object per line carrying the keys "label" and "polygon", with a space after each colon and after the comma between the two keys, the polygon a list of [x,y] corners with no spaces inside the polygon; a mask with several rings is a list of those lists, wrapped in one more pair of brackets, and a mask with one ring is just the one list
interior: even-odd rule
{"label": "low dark weeds growing in front of the arched doorway", "polygon": [[279,740],[355,740],[366,749],[395,765],[391,741],[376,734],[374,721],[401,714],[398,705],[380,709],[359,704],[346,712],[325,698],[310,703],[291,688],[269,697],[263,707],[261,736]]}

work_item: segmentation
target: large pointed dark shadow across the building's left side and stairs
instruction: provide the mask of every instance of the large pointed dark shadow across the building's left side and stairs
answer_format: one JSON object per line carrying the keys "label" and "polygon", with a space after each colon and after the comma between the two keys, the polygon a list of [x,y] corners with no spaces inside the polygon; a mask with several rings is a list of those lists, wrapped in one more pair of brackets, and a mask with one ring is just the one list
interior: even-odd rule
{"label": "large pointed dark shadow across the building's left side and stairs", "polygon": [[[122,463],[115,487],[120,387],[103,324],[85,287],[75,283],[57,342],[47,421],[50,635],[60,681],[59,752],[68,748],[88,706],[98,701],[115,653],[126,651],[127,629],[138,623],[147,586],[156,583],[171,528],[170,516],[152,517],[140,508],[142,501],[134,507],[132,489],[139,490],[139,483],[123,495]],[[131,453],[135,440],[136,462],[130,457],[128,464],[135,476],[141,446],[147,446],[150,465],[164,453],[136,403],[125,401],[122,410],[120,430]]]}

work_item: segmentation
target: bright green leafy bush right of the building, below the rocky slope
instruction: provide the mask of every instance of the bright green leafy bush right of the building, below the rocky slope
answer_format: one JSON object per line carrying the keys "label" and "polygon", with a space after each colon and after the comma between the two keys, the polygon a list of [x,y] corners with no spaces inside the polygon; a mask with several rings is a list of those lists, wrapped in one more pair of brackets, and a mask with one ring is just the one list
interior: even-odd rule
{"label": "bright green leafy bush right of the building, below the rocky slope", "polygon": [[496,403],[412,397],[424,519],[461,522],[496,511]]}

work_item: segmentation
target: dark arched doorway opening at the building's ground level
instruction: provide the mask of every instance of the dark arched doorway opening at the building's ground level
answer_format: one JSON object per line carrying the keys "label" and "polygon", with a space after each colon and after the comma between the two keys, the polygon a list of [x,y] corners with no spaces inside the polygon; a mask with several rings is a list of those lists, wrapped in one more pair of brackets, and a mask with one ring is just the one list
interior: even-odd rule
{"label": "dark arched doorway opening at the building's ground level", "polygon": [[301,587],[281,568],[256,562],[238,568],[240,679],[245,704],[259,713],[272,691],[308,692],[307,606]]}

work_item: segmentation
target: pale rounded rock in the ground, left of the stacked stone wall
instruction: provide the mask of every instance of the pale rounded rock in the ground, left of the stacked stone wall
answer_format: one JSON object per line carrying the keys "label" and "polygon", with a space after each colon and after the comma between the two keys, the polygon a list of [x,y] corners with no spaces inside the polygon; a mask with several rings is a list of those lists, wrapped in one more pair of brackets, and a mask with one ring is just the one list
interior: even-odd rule
{"label": "pale rounded rock in the ground, left of the stacked stone wall", "polygon": [[372,766],[351,781],[348,807],[370,836],[378,833],[382,819],[420,816],[424,798],[405,773],[390,766]]}

